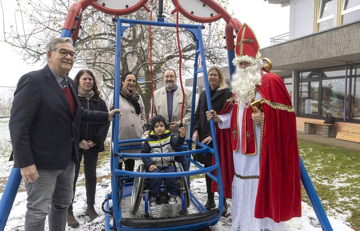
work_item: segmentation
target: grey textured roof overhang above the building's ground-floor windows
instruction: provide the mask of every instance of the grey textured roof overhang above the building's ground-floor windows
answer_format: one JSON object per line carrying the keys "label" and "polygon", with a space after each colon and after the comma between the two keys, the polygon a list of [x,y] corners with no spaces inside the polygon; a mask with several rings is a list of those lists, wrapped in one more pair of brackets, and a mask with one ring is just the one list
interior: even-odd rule
{"label": "grey textured roof overhang above the building's ground-floor windows", "polygon": [[360,20],[260,49],[273,71],[302,70],[360,62]]}

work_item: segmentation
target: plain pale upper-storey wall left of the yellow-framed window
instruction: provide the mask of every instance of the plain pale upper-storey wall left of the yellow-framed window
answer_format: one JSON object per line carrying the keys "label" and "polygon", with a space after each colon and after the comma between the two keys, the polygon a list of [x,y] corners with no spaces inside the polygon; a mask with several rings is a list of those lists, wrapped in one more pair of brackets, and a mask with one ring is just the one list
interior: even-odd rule
{"label": "plain pale upper-storey wall left of the yellow-framed window", "polygon": [[290,1],[289,39],[299,38],[314,32],[315,1]]}

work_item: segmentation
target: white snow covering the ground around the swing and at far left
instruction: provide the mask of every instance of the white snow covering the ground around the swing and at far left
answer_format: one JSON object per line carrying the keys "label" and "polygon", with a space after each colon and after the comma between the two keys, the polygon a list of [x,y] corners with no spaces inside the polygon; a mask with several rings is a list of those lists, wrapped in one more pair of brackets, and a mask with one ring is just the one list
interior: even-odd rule
{"label": "white snow covering the ground around the swing and at far left", "polygon": [[[11,153],[11,144],[9,138],[8,130],[8,119],[0,119],[0,179],[4,179],[2,183],[0,182],[1,188],[6,184],[6,177],[9,176],[12,162],[8,162],[9,155]],[[137,161],[137,163],[139,163]],[[102,165],[98,167],[97,175],[98,179],[101,182],[96,186],[96,198],[95,198],[95,209],[99,213],[100,217],[96,218],[94,221],[90,221],[88,217],[85,216],[86,209],[86,191],[84,185],[84,174],[79,175],[78,183],[80,183],[76,188],[75,201],[73,204],[74,214],[77,221],[80,223],[78,228],[66,227],[67,231],[100,231],[104,230],[105,227],[105,214],[101,209],[101,205],[104,201],[105,195],[111,192],[111,180],[107,179],[110,175],[109,170],[109,161],[104,161]],[[136,169],[136,167],[135,167]],[[105,178],[106,177],[106,178]],[[348,176],[349,177],[349,176]],[[354,176],[355,177],[355,176]],[[81,186],[80,186],[81,185]],[[23,183],[21,184],[23,188]],[[194,179],[191,183],[192,193],[205,204],[206,202],[206,184],[205,179]],[[0,194],[0,197],[2,193]],[[218,195],[216,194],[216,197]],[[18,193],[12,211],[10,212],[8,222],[5,226],[5,231],[22,231],[24,230],[24,219],[26,211],[26,192]],[[217,197],[218,198],[218,197]],[[217,201],[216,201],[217,202]],[[226,231],[230,229],[231,226],[231,201],[228,199],[228,213],[225,217],[221,217],[220,221],[210,229],[213,231]],[[0,208],[1,209],[1,208]],[[348,214],[344,211],[343,214],[336,213],[334,211],[331,214],[331,217],[328,216],[329,221],[333,227],[334,231],[350,231],[353,230],[349,226],[345,225],[346,217]],[[48,231],[48,223],[46,220],[45,231]],[[316,218],[314,210],[308,204],[302,202],[302,217],[293,218],[290,221],[286,222],[286,231],[321,231],[319,226],[318,219]]]}

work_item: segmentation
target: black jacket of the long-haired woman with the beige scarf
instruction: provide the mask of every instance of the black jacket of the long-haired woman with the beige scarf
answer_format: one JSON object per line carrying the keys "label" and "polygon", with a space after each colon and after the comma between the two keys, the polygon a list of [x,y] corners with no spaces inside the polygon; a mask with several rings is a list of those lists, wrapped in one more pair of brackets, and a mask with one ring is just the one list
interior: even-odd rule
{"label": "black jacket of the long-haired woman with the beige scarf", "polygon": [[[105,101],[94,94],[90,100],[87,100],[85,97],[78,96],[81,103],[81,107],[91,110],[91,111],[105,111],[108,112]],[[96,145],[87,150],[79,148],[79,152],[103,152],[104,141],[109,131],[110,121],[107,124],[89,124],[81,123],[80,124],[80,142],[82,140],[89,141],[91,140]]]}

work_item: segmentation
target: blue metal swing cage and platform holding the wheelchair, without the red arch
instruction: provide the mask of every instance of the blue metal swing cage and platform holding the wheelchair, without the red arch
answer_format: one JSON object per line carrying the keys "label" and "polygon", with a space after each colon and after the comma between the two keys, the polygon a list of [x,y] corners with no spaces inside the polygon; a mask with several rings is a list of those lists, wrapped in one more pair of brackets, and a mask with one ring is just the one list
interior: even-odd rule
{"label": "blue metal swing cage and platform holding the wheelchair, without the red arch", "polygon": [[[190,33],[193,34],[194,40],[196,42],[196,54],[195,54],[195,60],[200,59],[201,61],[199,62],[199,64],[197,63],[197,68],[194,71],[194,84],[193,84],[193,92],[196,91],[196,79],[197,79],[197,73],[204,73],[204,76],[207,76],[206,73],[206,65],[205,64],[205,54],[204,54],[204,50],[203,50],[203,44],[202,44],[202,34],[201,34],[201,29],[202,29],[202,25],[191,25],[191,24],[175,24],[175,23],[166,23],[163,19],[159,20],[160,18],[158,17],[158,21],[157,22],[152,22],[152,21],[140,21],[140,20],[131,20],[131,19],[120,19],[120,18],[116,18],[116,25],[117,25],[117,36],[116,36],[116,60],[115,60],[115,80],[114,80],[114,95],[118,96],[118,92],[119,92],[119,86],[118,83],[120,83],[120,42],[121,42],[121,35],[123,34],[123,32],[125,31],[126,28],[134,26],[135,24],[145,24],[145,25],[151,25],[151,26],[161,26],[161,27],[179,27],[179,28],[184,28],[186,31],[189,31]],[[119,58],[118,58],[119,57]],[[205,85],[208,86],[207,83],[207,78],[205,78],[206,82]],[[210,92],[208,92],[209,96],[210,96]],[[210,102],[210,98],[208,99]],[[193,94],[193,102],[195,102],[195,94]],[[210,103],[209,103],[210,104]],[[118,108],[118,97],[114,98],[114,106],[115,108]],[[194,114],[195,111],[195,104],[193,103],[192,105],[192,116]],[[212,124],[213,125],[213,124]],[[215,129],[215,127],[213,128]],[[190,130],[192,130],[190,128]],[[143,183],[141,182],[141,180],[138,179],[143,179],[143,177],[184,177],[184,176],[190,176],[190,175],[197,175],[197,174],[202,174],[202,173],[207,173],[209,174],[213,180],[215,180],[217,183],[219,183],[219,188],[222,189],[222,183],[221,183],[221,174],[219,174],[217,177],[213,176],[212,174],[210,174],[209,172],[212,170],[218,170],[219,169],[219,161],[218,161],[218,154],[217,154],[217,148],[215,147],[212,150],[210,150],[208,147],[206,147],[204,145],[204,147],[202,149],[198,149],[198,150],[191,150],[189,148],[189,144],[191,146],[191,143],[189,140],[186,140],[186,142],[188,143],[188,145],[184,145],[182,148],[183,149],[187,149],[190,151],[185,151],[185,152],[175,152],[172,153],[172,155],[174,156],[181,156],[181,155],[190,155],[190,154],[194,154],[194,153],[198,153],[198,152],[203,152],[203,153],[207,153],[207,152],[213,152],[215,155],[215,158],[217,159],[216,164],[208,167],[208,168],[203,168],[201,165],[199,165],[198,163],[196,163],[195,161],[192,160],[192,158],[188,158],[190,162],[194,163],[195,165],[197,165],[199,167],[198,170],[193,170],[193,171],[189,171],[189,165],[186,168],[186,171],[182,172],[182,171],[178,171],[178,172],[174,172],[174,173],[161,173],[161,174],[154,174],[154,173],[147,173],[147,172],[143,172],[140,168],[140,171],[138,172],[130,172],[130,171],[125,171],[125,170],[119,170],[117,168],[118,166],[118,159],[122,158],[122,157],[165,157],[168,156],[168,153],[158,153],[158,154],[130,154],[130,153],[121,153],[121,150],[124,149],[128,149],[130,147],[121,147],[121,148],[117,148],[117,144],[122,144],[122,143],[126,143],[126,142],[135,142],[135,141],[141,141],[141,140],[129,140],[129,141],[118,141],[118,121],[114,121],[113,123],[113,127],[112,127],[112,144],[111,144],[111,154],[112,154],[112,173],[113,173],[113,177],[112,177],[112,209],[113,209],[113,218],[114,218],[114,226],[110,226],[108,225],[108,221],[110,220],[110,217],[108,217],[108,214],[106,215],[105,219],[105,230],[134,230],[134,228],[144,228],[146,227],[147,230],[158,230],[161,227],[161,230],[174,230],[174,229],[187,229],[187,230],[197,230],[199,228],[203,228],[203,227],[207,227],[207,226],[211,226],[211,225],[215,225],[217,223],[217,221],[219,221],[220,219],[220,209],[222,208],[222,190],[219,191],[219,208],[217,209],[213,209],[211,211],[206,211],[206,209],[203,208],[202,204],[198,201],[198,199],[196,197],[194,197],[194,195],[191,193],[191,191],[189,191],[187,189],[187,184],[186,183],[182,183],[180,190],[181,191],[181,199],[183,201],[182,204],[182,208],[181,211],[179,211],[180,216],[175,216],[175,214],[171,213],[171,211],[169,211],[167,213],[167,215],[165,216],[156,216],[154,213],[151,213],[152,216],[154,216],[154,218],[149,217],[148,214],[148,198],[147,198],[147,193],[145,194],[145,205],[144,205],[144,213],[141,214],[144,216],[144,218],[136,218],[136,214],[135,214],[135,218],[134,216],[131,216],[131,214],[127,214],[123,211],[122,207],[126,206],[126,197],[130,197],[130,193],[127,194],[126,191],[130,191],[130,189],[132,188],[132,185],[130,184],[122,184],[119,182],[119,178],[118,176],[133,176],[136,177],[135,179],[135,186],[136,188],[140,188],[140,190],[138,189],[137,191],[135,191],[134,193],[137,194],[137,198],[136,199],[132,199],[132,203],[139,203],[139,198],[141,199],[141,197],[139,197],[139,194],[143,194],[143,191],[141,191],[141,188],[143,187]],[[140,146],[141,147],[141,146]],[[131,148],[139,148],[136,146],[133,146]],[[120,190],[119,190],[120,187]],[[128,190],[127,187],[129,187],[130,189]],[[117,193],[118,191],[122,191],[122,195],[119,195],[119,193]],[[134,190],[132,190],[134,191]],[[139,193],[140,191],[140,193]],[[121,194],[121,193],[120,193]],[[184,195],[185,194],[185,195]],[[110,197],[110,196],[109,196]],[[121,200],[121,202],[120,202]],[[191,205],[189,205],[189,203],[186,203],[186,201],[189,202],[189,200],[191,200]],[[131,206],[130,206],[131,207]],[[138,207],[138,205],[134,206],[134,207]],[[191,207],[191,208],[189,208]],[[107,210],[109,208],[108,202],[106,202],[105,204],[105,210]],[[136,209],[132,208],[131,210],[135,211]],[[165,208],[162,209],[157,209],[157,211],[166,211]],[[174,211],[174,209],[172,210]],[[164,214],[161,214],[164,215]],[[156,217],[155,217],[156,216]]]}

